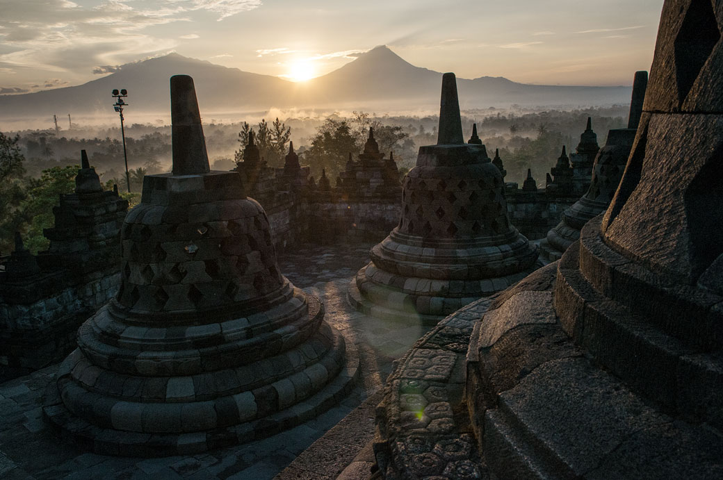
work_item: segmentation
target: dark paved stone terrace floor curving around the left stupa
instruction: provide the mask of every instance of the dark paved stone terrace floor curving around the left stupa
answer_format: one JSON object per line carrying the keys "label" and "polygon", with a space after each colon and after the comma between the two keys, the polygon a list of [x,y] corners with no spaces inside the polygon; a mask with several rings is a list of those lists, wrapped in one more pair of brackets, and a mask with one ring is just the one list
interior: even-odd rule
{"label": "dark paved stone terrace floor curving around the left stupa", "polygon": [[[392,361],[426,332],[419,326],[367,317],[349,307],[348,283],[356,270],[369,262],[370,247],[372,244],[301,246],[279,257],[281,271],[294,285],[319,296],[326,307],[326,320],[359,347],[361,380],[340,405],[299,427],[246,445],[168,458],[108,457],[61,442],[43,422],[42,395],[57,369],[54,365],[0,385],[0,478],[272,479],[377,392],[392,369]],[[359,429],[359,438],[347,440],[343,449],[348,456],[346,463],[357,453],[348,445],[366,444],[372,431],[370,425]],[[313,464],[303,476],[317,477]]]}

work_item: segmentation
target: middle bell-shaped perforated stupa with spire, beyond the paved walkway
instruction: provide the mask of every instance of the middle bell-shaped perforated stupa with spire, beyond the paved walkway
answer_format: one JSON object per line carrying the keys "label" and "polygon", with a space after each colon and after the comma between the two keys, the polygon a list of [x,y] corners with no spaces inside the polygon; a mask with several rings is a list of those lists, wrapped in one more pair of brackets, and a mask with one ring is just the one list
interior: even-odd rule
{"label": "middle bell-shaped perforated stupa with spire, beyond the paved walkway", "polygon": [[403,181],[402,213],[372,248],[350,300],[384,318],[436,323],[534,269],[537,252],[510,225],[500,170],[465,143],[454,74],[442,78],[437,145],[421,147]]}

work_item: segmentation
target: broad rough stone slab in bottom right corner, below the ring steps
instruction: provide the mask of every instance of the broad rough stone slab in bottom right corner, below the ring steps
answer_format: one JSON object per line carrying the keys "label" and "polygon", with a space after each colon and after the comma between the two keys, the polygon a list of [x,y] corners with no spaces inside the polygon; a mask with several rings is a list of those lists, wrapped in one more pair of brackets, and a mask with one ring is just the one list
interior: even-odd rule
{"label": "broad rough stone slab in bottom right corner, below the ring steps", "polygon": [[[548,361],[500,393],[484,426],[484,456],[500,479],[657,479],[662,463],[677,479],[723,472],[719,432],[657,413],[580,357]],[[611,476],[615,465],[641,468]]]}

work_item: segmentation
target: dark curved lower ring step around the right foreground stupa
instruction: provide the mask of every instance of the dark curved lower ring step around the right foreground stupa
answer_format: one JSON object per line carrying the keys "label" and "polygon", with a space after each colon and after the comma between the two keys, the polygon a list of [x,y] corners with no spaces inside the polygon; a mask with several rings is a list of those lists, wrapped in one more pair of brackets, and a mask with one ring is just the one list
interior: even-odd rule
{"label": "dark curved lower ring step around the right foreground stupa", "polygon": [[565,333],[630,389],[665,411],[723,427],[716,391],[723,385],[723,356],[701,351],[647,317],[602,296],[575,264],[578,245],[560,261],[555,305]]}

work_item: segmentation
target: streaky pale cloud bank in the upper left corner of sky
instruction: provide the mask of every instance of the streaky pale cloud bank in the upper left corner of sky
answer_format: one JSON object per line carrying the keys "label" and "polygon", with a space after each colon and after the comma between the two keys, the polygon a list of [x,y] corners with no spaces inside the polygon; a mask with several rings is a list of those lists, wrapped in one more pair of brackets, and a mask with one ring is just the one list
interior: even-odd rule
{"label": "streaky pale cloud bank in the upper left corner of sky", "polygon": [[162,4],[145,0],[133,6],[129,1],[106,0],[92,8],[67,0],[9,2],[0,19],[7,52],[0,54],[0,69],[103,73],[139,55],[174,48],[176,40],[155,38],[144,30],[187,21],[185,10],[166,0]]}

